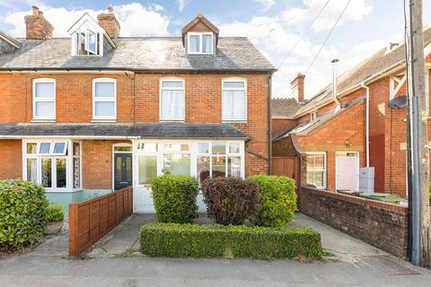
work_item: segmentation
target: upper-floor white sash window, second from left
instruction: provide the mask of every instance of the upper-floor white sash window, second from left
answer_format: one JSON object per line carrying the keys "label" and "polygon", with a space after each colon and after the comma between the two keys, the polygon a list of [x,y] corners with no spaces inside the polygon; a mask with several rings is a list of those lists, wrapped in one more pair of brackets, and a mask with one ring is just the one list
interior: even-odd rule
{"label": "upper-floor white sash window, second from left", "polygon": [[117,81],[115,79],[92,80],[92,119],[117,119]]}

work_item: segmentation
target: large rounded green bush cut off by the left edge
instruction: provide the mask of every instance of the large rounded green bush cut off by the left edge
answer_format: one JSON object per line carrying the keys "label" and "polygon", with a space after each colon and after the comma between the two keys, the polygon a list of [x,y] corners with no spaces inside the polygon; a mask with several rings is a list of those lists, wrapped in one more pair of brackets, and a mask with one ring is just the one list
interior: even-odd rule
{"label": "large rounded green bush cut off by the left edge", "polygon": [[30,181],[0,181],[0,250],[22,249],[43,234],[48,200]]}

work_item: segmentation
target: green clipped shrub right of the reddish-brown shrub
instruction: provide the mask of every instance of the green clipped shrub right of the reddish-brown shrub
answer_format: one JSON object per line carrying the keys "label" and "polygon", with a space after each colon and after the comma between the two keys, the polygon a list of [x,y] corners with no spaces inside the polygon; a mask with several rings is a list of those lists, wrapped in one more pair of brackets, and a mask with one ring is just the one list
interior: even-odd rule
{"label": "green clipped shrub right of the reddish-brown shrub", "polygon": [[250,179],[259,184],[260,204],[255,224],[277,227],[294,219],[294,179],[277,176],[252,176]]}

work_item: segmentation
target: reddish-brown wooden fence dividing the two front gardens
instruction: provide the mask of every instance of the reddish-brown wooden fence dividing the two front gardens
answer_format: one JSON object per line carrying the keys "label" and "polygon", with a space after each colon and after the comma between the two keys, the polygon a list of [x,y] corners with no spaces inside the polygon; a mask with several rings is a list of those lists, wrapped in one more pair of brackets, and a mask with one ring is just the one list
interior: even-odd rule
{"label": "reddish-brown wooden fence dividing the two front gardens", "polygon": [[132,213],[132,187],[69,204],[69,257],[78,257]]}

